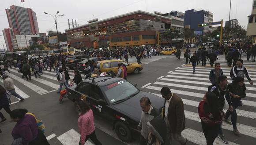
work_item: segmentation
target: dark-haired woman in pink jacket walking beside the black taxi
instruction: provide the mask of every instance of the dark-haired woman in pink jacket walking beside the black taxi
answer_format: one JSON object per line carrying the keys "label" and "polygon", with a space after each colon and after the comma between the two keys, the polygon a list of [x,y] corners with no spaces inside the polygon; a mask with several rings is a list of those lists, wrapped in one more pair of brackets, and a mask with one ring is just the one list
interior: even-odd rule
{"label": "dark-haired woman in pink jacket walking beside the black taxi", "polygon": [[95,145],[102,145],[95,134],[94,117],[90,105],[86,101],[80,101],[79,108],[81,110],[78,118],[78,128],[81,134],[79,145],[84,145],[89,138]]}

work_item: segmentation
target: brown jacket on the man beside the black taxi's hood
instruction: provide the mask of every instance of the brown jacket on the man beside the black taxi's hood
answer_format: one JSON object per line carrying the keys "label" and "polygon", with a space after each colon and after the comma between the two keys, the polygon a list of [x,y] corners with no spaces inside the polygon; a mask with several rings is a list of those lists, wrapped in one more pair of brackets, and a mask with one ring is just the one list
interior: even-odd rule
{"label": "brown jacket on the man beside the black taxi's hood", "polygon": [[[166,100],[165,100],[166,103]],[[165,104],[164,104],[165,105]],[[165,117],[165,106],[163,108],[163,119]],[[185,114],[184,114],[184,104],[181,98],[173,93],[173,98],[170,101],[168,108],[168,121],[170,132],[173,134],[181,134],[181,131],[185,127]]]}

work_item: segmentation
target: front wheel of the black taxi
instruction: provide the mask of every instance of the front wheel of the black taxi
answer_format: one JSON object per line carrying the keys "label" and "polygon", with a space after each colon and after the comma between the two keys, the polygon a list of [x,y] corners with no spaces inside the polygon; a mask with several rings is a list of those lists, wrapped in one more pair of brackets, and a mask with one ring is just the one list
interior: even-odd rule
{"label": "front wheel of the black taxi", "polygon": [[128,142],[132,139],[131,131],[124,123],[117,122],[115,124],[115,131],[118,138],[120,138],[122,141]]}

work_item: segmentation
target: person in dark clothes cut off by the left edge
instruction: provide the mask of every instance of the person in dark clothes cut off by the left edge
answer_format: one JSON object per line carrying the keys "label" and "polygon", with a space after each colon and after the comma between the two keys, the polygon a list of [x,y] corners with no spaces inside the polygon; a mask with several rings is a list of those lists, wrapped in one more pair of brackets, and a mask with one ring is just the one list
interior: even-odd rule
{"label": "person in dark clothes cut off by the left edge", "polygon": [[[8,97],[9,96],[9,97]],[[11,109],[10,109],[10,94],[8,91],[4,89],[3,86],[0,85],[0,110],[4,108],[4,110],[10,115]],[[7,119],[4,117],[4,115],[0,112],[1,121],[0,123],[6,121]]]}

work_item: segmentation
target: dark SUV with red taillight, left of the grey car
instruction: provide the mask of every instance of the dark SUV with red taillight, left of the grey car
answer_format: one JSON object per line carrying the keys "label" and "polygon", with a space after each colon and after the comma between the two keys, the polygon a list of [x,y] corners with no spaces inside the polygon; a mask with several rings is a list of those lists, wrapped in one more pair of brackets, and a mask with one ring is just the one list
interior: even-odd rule
{"label": "dark SUV with red taillight, left of the grey car", "polygon": [[77,63],[82,62],[83,60],[85,60],[87,58],[90,58],[90,56],[88,56],[88,55],[68,56],[68,58],[66,58],[66,60],[65,60],[66,67],[68,67],[69,69],[76,69]]}

